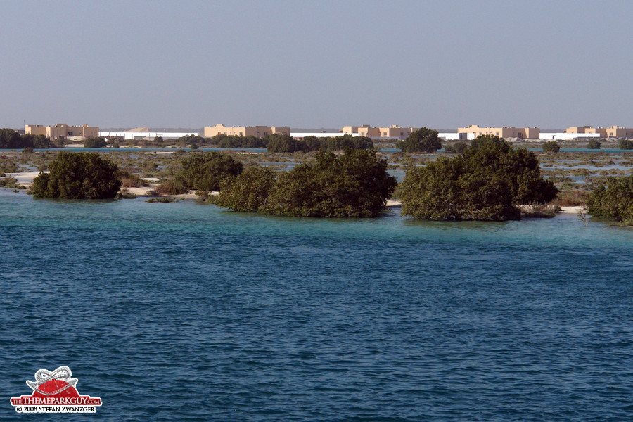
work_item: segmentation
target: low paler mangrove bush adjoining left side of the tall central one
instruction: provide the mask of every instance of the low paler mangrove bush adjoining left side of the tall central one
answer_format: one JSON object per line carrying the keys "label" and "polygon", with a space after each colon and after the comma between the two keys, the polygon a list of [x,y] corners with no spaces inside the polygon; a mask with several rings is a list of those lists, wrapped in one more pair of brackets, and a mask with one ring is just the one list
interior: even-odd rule
{"label": "low paler mangrove bush adjoining left side of the tall central one", "polygon": [[275,172],[267,167],[250,167],[229,181],[214,203],[234,211],[258,212],[268,203],[275,184]]}

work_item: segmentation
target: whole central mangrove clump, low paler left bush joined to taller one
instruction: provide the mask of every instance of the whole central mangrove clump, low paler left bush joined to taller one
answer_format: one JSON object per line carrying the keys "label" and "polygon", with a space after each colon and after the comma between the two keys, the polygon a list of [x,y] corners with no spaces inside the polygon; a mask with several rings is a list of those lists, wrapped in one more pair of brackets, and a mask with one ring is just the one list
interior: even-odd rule
{"label": "whole central mangrove clump, low paler left bush joined to taller one", "polygon": [[291,217],[375,217],[397,184],[387,162],[368,150],[316,153],[316,164],[289,172],[250,169],[227,184],[216,203],[239,211]]}

